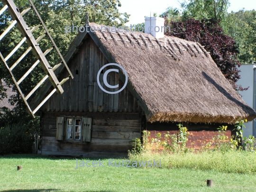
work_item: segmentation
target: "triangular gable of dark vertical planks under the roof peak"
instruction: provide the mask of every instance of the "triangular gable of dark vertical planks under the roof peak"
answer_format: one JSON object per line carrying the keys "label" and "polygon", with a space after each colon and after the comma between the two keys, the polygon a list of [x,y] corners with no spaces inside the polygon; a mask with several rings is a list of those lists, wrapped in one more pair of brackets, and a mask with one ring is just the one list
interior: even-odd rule
{"label": "triangular gable of dark vertical planks under the roof peak", "polygon": [[[42,111],[85,111],[85,112],[142,112],[141,107],[132,94],[125,88],[118,94],[108,94],[99,88],[97,73],[99,69],[108,64],[108,60],[101,53],[91,38],[83,41],[68,66],[74,78],[64,83],[64,93],[54,95],[41,107]],[[104,68],[105,73],[111,66]],[[78,74],[76,74],[78,72]],[[68,76],[64,71],[59,79]],[[103,73],[100,75],[103,86]],[[118,73],[110,72],[107,76],[110,85],[119,84],[119,88],[111,89],[103,86],[107,91],[117,91],[124,83],[119,79]]]}

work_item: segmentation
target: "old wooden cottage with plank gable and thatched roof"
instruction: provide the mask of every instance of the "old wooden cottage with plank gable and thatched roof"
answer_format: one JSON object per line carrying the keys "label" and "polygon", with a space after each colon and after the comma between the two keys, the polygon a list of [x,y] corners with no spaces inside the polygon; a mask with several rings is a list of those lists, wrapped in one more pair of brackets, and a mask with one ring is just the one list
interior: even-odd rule
{"label": "old wooden cottage with plank gable and thatched roof", "polygon": [[[101,28],[90,23],[90,26]],[[206,50],[176,37],[156,39],[140,32],[79,33],[65,61],[74,79],[64,83],[64,93],[54,94],[38,111],[42,128],[42,155],[84,157],[126,156],[132,139],[144,129],[176,134],[178,123],[190,131],[188,145],[209,141],[219,125],[238,118],[253,120],[251,109],[225,79]],[[109,63],[124,67],[126,88],[117,94],[103,92],[97,83],[99,69]],[[124,85],[124,74],[111,72],[110,85]],[[60,66],[56,74],[68,75]],[[52,91],[46,82],[36,105]],[[227,135],[231,136],[232,128]]]}

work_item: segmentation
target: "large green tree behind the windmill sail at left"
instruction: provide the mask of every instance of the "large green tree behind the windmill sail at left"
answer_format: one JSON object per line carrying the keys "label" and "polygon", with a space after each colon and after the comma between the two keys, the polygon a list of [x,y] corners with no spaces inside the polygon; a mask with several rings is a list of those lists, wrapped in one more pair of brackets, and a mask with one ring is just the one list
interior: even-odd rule
{"label": "large green tree behind the windmill sail at left", "polygon": [[[89,15],[90,22],[94,21],[98,24],[110,26],[115,25],[117,27],[124,25],[124,23],[128,22],[129,18],[127,13],[119,12],[118,7],[121,6],[120,0],[33,0],[33,2],[40,16],[44,20],[46,27],[55,40],[57,47],[63,55],[72,42],[73,38],[77,35],[77,33],[65,34],[65,26],[72,26],[72,24],[78,27],[83,26],[86,22],[86,13]],[[30,7],[30,4],[27,0],[15,1],[15,3],[20,11]],[[0,3],[0,9],[2,7],[3,4]],[[29,27],[34,27],[40,23],[33,10],[30,10],[24,16],[24,19]],[[7,11],[1,15],[0,33],[2,33],[10,25],[10,20],[11,17]],[[45,31],[42,27],[40,27],[33,33],[33,36],[37,38],[44,33]],[[15,46],[17,46],[22,38],[23,37],[17,27],[13,27],[9,31],[6,37],[0,41],[0,51],[4,57],[8,55]],[[43,52],[53,46],[49,38],[43,38],[39,44]],[[27,50],[27,48],[27,43],[23,43],[15,55],[13,55],[8,60],[9,66],[16,62],[20,55],[22,55]],[[50,52],[48,55],[46,55],[46,58],[51,66],[54,66],[60,59],[56,51]],[[19,79],[35,61],[36,58],[30,52],[12,71],[15,74],[15,78]],[[37,66],[27,76],[27,78],[19,84],[23,93],[26,95],[28,92],[30,92],[44,76],[45,73],[41,67]],[[0,80],[1,79],[4,79],[8,84],[13,84],[9,73],[7,73],[7,70],[2,61],[0,61]],[[15,86],[14,91],[18,92]],[[5,90],[0,83],[0,100],[5,96]],[[31,100],[33,98],[31,97],[29,99]],[[14,112],[17,116],[18,114],[21,116],[26,114],[26,106],[18,93],[11,98],[10,102],[18,102]]]}

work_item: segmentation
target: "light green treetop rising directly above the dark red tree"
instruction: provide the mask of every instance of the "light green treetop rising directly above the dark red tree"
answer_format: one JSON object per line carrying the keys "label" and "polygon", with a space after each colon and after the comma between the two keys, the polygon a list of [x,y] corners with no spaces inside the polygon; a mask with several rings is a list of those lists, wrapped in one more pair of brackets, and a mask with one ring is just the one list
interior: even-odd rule
{"label": "light green treetop rising directly above the dark red tree", "polygon": [[215,19],[223,20],[228,12],[229,0],[183,0],[180,3],[183,8],[183,20]]}

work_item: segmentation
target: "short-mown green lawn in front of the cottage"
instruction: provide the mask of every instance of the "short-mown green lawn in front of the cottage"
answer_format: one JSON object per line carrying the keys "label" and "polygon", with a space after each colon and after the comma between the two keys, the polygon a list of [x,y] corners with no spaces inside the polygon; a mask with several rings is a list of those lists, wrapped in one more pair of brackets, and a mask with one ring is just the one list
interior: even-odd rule
{"label": "short-mown green lawn in front of the cottage", "polygon": [[[86,161],[86,160],[84,160]],[[17,171],[17,165],[22,165]],[[4,192],[256,192],[255,174],[166,168],[81,167],[75,159],[42,155],[0,157]],[[213,180],[213,188],[206,186]]]}

